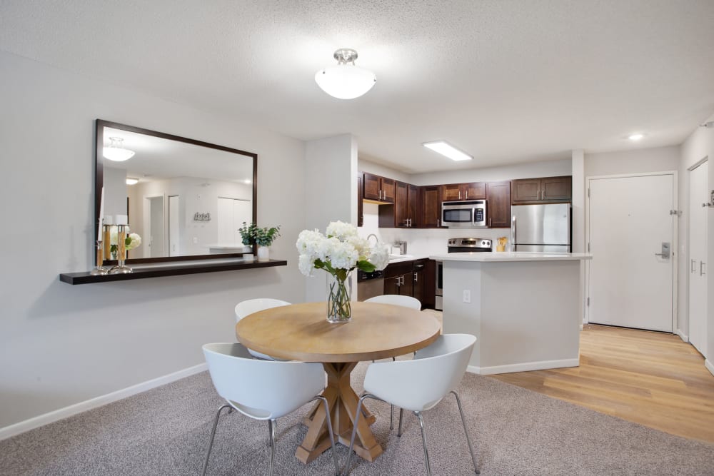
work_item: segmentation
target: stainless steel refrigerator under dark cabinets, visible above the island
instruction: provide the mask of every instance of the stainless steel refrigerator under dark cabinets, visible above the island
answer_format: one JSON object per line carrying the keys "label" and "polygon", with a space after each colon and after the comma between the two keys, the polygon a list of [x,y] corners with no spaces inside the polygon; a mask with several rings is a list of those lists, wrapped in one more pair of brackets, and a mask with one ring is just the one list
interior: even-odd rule
{"label": "stainless steel refrigerator under dark cabinets, visible above the island", "polygon": [[511,207],[513,251],[570,253],[570,203]]}

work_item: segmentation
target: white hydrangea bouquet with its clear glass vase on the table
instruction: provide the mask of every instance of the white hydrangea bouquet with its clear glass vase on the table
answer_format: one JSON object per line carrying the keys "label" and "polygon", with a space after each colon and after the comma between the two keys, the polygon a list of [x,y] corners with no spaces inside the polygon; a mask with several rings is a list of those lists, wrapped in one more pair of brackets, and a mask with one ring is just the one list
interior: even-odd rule
{"label": "white hydrangea bouquet with its clear glass vase on the table", "polygon": [[357,228],[350,223],[331,222],[323,235],[317,229],[303,230],[296,243],[300,258],[298,268],[306,276],[312,276],[313,270],[326,270],[332,276],[329,284],[327,320],[330,322],[348,322],[352,318],[350,295],[345,282],[355,268],[366,273],[382,270],[389,263],[386,247],[376,245],[360,238]]}

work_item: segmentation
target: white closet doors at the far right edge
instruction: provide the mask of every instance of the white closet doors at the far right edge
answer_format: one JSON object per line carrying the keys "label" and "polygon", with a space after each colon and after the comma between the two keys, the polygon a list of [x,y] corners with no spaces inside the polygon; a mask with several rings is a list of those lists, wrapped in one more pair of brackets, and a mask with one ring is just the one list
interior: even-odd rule
{"label": "white closet doors at the far right edge", "polygon": [[709,164],[689,172],[689,342],[707,355],[707,203]]}

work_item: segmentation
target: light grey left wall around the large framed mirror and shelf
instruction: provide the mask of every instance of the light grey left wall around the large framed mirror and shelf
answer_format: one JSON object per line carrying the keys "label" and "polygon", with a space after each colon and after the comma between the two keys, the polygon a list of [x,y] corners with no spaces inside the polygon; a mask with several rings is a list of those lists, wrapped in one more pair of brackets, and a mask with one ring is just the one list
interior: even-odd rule
{"label": "light grey left wall around the large framed mirror and shelf", "polygon": [[[203,343],[235,339],[240,300],[303,299],[301,141],[4,52],[0,77],[0,428],[203,363]],[[288,267],[60,283],[93,262],[95,118],[257,153],[258,222],[282,226]]]}

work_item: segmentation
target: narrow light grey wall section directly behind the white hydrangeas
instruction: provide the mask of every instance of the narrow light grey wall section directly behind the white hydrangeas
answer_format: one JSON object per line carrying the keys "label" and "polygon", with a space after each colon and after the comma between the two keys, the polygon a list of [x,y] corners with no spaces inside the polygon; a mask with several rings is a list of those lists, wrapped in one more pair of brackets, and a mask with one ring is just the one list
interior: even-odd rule
{"label": "narrow light grey wall section directly behind the white hydrangeas", "polygon": [[[308,141],[301,176],[306,187],[305,228],[325,233],[331,221],[357,225],[357,142],[351,134]],[[325,300],[326,278],[323,270],[316,270],[313,278],[304,278],[306,301]]]}

